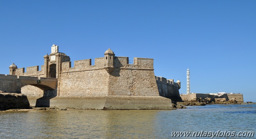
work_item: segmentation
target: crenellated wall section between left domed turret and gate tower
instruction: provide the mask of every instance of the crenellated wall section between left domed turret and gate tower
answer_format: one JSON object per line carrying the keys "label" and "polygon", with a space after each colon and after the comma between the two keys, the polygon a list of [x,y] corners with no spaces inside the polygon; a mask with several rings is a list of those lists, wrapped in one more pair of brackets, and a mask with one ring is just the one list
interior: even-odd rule
{"label": "crenellated wall section between left domed turret and gate tower", "polygon": [[33,76],[33,75],[41,75],[44,74],[44,65],[41,66],[41,70],[39,71],[39,66],[27,67],[26,72],[25,68],[16,69],[15,75],[23,75],[23,76]]}

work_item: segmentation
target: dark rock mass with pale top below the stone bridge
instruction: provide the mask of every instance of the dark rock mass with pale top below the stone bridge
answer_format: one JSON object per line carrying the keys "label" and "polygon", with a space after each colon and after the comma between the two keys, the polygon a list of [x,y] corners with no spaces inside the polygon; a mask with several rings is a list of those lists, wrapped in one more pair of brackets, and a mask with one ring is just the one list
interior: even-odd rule
{"label": "dark rock mass with pale top below the stone bridge", "polygon": [[29,109],[29,100],[20,93],[5,93],[0,91],[0,110]]}

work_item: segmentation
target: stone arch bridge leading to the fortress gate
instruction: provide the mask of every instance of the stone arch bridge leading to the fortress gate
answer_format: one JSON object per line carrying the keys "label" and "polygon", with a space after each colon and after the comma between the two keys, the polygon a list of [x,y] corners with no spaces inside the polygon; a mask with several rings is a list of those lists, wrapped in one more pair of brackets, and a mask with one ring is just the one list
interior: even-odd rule
{"label": "stone arch bridge leading to the fortress gate", "polygon": [[0,91],[8,93],[21,93],[21,87],[26,85],[33,85],[44,91],[55,90],[57,84],[57,78],[0,74]]}

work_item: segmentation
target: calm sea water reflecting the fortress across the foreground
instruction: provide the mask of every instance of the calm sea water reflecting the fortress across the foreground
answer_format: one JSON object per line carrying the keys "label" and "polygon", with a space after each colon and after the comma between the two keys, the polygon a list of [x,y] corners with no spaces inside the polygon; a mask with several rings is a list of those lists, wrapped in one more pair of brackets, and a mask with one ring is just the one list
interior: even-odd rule
{"label": "calm sea water reflecting the fortress across the foreground", "polygon": [[0,119],[0,138],[173,138],[171,133],[175,131],[256,132],[256,105],[188,106],[177,110],[16,111],[0,112]]}

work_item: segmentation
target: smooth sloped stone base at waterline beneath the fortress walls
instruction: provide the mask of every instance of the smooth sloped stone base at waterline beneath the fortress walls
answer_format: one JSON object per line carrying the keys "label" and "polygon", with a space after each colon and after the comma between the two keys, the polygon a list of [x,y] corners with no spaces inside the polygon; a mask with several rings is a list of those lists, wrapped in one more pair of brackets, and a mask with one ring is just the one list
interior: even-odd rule
{"label": "smooth sloped stone base at waterline beneath the fortress walls", "polygon": [[83,96],[29,99],[31,106],[85,109],[176,109],[171,99],[161,96]]}

